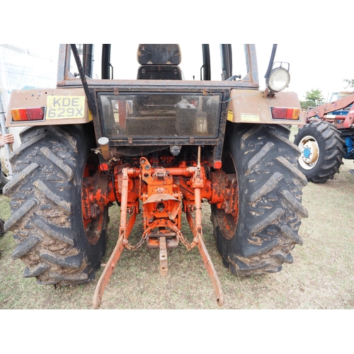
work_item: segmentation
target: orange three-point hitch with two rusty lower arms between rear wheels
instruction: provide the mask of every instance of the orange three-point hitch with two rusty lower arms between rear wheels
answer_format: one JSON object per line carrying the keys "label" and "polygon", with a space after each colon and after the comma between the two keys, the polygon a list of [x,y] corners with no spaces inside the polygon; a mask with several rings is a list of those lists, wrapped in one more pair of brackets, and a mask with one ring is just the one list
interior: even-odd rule
{"label": "orange three-point hitch with two rusty lower arms between rear wheels", "polygon": [[[198,164],[196,166],[180,166],[171,169],[153,169],[149,161],[142,157],[140,159],[141,170],[123,168],[121,180],[121,212],[120,212],[120,232],[118,241],[111,254],[108,263],[105,265],[101,278],[98,280],[95,294],[93,295],[93,307],[98,309],[101,306],[103,292],[108,285],[113,270],[115,269],[123,249],[137,250],[147,241],[148,246],[158,246],[160,253],[160,274],[167,275],[167,242],[171,242],[171,247],[181,243],[188,249],[198,246],[200,256],[204,262],[207,273],[215,291],[215,299],[217,304],[224,304],[224,295],[219,277],[215,270],[212,260],[207,252],[202,237],[202,207],[201,207],[201,189],[204,187],[205,178],[203,178],[203,170],[200,167],[200,147],[198,148]],[[129,205],[128,195],[130,190],[131,176],[139,175],[140,181],[147,183],[147,190],[142,191],[142,205],[144,215],[144,233],[142,239],[136,246],[130,245],[128,237],[135,224],[138,203]],[[194,190],[194,202],[184,202],[184,209],[187,215],[190,229],[193,232],[193,241],[188,242],[181,232],[181,193],[178,192],[178,185],[173,183],[172,176],[188,176],[190,177],[190,188]],[[139,187],[140,188],[140,187]],[[166,193],[169,192],[169,193]],[[130,218],[127,220],[127,210],[132,210]],[[194,212],[194,217],[193,217]],[[158,232],[153,230],[159,230]]]}

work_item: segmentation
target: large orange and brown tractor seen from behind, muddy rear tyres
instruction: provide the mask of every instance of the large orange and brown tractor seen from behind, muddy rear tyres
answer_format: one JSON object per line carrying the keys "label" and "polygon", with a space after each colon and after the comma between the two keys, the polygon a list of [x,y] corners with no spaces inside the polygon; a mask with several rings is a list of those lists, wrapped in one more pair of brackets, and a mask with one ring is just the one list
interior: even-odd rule
{"label": "large orange and brown tractor seen from behind, muddy rear tyres", "polygon": [[[119,45],[60,45],[55,89],[11,93],[6,126],[24,129],[4,187],[11,206],[5,229],[25,278],[55,286],[92,281],[114,203],[119,233],[93,295],[96,309],[122,251],[143,244],[159,249],[161,275],[168,249],[197,246],[222,306],[202,202],[210,204],[215,244],[232,273],[275,273],[293,262],[308,214],[307,180],[289,140],[290,126],[304,125],[304,117],[297,94],[281,92],[289,64],[275,62],[273,45],[261,90],[255,45],[217,46],[219,64],[211,47],[198,46],[198,71],[185,79],[183,45],[139,44],[137,74],[116,79],[118,59],[129,58]],[[244,72],[234,74],[235,63]],[[181,232],[183,214],[191,236]],[[137,215],[143,232],[130,244]]]}

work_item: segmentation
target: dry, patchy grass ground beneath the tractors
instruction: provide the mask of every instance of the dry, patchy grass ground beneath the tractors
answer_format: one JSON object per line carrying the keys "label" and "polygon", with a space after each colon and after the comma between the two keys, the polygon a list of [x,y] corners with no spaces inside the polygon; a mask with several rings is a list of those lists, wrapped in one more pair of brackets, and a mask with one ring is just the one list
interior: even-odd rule
{"label": "dry, patchy grass ground beneath the tractors", "polygon": [[[215,302],[210,279],[198,249],[169,249],[169,275],[159,275],[159,251],[145,246],[123,251],[106,287],[102,309],[354,309],[354,176],[353,161],[344,161],[341,173],[324,184],[309,183],[303,190],[303,219],[299,234],[303,246],[292,251],[293,264],[280,273],[238,278],[222,265],[212,237],[210,208],[203,207],[205,244],[219,274],[224,307]],[[0,195],[0,217],[8,219],[8,198]],[[118,234],[118,208],[110,210],[108,260]],[[188,234],[188,229],[184,231]],[[138,241],[141,230],[131,236]],[[188,234],[190,238],[190,234]],[[136,238],[136,239],[135,239]],[[23,263],[13,261],[16,243],[11,233],[0,238],[0,309],[91,309],[101,275],[87,285],[40,287],[23,278]]]}

